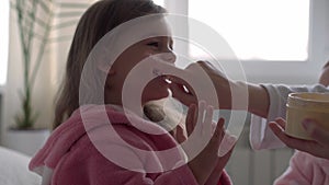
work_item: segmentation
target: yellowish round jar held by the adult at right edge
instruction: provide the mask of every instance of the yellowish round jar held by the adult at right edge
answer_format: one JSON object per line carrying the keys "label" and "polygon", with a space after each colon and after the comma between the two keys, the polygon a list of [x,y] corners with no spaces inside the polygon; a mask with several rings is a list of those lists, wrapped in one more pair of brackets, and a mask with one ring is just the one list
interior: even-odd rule
{"label": "yellowish round jar held by the adult at right edge", "polygon": [[316,119],[329,131],[329,94],[328,93],[291,93],[286,104],[285,132],[292,137],[311,140],[302,123]]}

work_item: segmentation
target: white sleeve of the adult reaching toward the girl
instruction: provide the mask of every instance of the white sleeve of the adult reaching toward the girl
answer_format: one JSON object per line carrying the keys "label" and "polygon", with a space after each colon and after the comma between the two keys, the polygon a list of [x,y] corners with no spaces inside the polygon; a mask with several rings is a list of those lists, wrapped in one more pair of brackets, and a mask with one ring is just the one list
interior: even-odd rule
{"label": "white sleeve of the adult reaching toward the girl", "polygon": [[295,85],[288,86],[284,84],[262,84],[270,96],[270,108],[266,118],[251,115],[250,125],[250,144],[252,149],[272,149],[284,147],[272,130],[268,127],[268,123],[274,120],[276,117],[285,118],[286,100],[292,92],[329,92],[329,89],[321,85]]}

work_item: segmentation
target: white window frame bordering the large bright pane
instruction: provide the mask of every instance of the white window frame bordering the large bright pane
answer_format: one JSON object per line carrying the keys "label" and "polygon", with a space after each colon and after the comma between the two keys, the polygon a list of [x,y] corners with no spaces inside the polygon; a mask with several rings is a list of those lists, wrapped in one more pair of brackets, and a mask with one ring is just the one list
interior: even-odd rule
{"label": "white window frame bordering the large bright pane", "polygon": [[[189,14],[189,0],[164,0],[170,13]],[[329,60],[329,2],[310,0],[308,59],[241,60],[247,81],[253,83],[311,84],[318,81],[322,66]],[[327,42],[326,42],[327,41]],[[234,66],[227,61],[227,66]]]}

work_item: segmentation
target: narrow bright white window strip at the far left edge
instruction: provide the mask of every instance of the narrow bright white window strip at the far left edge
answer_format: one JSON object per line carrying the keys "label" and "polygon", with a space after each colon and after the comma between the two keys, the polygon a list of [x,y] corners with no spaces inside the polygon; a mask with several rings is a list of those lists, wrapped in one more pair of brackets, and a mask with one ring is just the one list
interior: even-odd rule
{"label": "narrow bright white window strip at the far left edge", "polygon": [[9,45],[9,0],[0,1],[0,86],[5,83]]}

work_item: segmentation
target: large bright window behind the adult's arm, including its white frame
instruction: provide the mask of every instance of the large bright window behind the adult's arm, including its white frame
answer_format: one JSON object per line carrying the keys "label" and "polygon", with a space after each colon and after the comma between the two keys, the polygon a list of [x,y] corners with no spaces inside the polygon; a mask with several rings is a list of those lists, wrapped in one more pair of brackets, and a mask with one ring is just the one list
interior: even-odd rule
{"label": "large bright window behind the adult's arm, including its white frame", "polygon": [[[315,83],[328,60],[328,0],[164,0],[164,4],[169,12],[217,30],[250,82]],[[208,59],[193,47],[189,51],[193,58]],[[235,69],[230,61],[223,62]]]}

